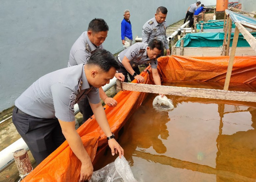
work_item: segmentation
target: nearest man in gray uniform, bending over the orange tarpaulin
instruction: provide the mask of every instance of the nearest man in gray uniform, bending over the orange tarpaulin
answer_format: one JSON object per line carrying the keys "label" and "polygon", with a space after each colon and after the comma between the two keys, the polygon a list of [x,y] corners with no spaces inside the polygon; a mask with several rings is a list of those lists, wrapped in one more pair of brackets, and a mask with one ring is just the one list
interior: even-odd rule
{"label": "nearest man in gray uniform, bending over the orange tarpaulin", "polygon": [[88,97],[95,119],[108,137],[112,155],[117,151],[120,157],[124,154],[110,130],[98,89],[109,83],[119,68],[110,52],[98,50],[87,64],[42,76],[15,100],[12,121],[38,164],[67,139],[82,163],[80,181],[91,178],[93,165],[75,130],[74,104],[84,96]]}

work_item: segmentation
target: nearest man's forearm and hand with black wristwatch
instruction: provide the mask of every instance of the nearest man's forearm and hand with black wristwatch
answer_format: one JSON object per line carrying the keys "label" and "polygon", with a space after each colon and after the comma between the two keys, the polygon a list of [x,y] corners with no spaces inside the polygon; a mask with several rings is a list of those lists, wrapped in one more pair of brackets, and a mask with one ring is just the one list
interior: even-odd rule
{"label": "nearest man's forearm and hand with black wristwatch", "polygon": [[[95,119],[97,120],[99,127],[101,127],[102,131],[105,133],[107,137],[112,136],[112,132],[110,130],[109,123],[101,103],[98,103],[98,104],[90,103],[90,106],[91,106],[91,109],[93,110]],[[121,158],[121,155],[124,155],[123,148],[117,143],[117,141],[114,138],[108,140],[108,145],[111,149],[112,155],[114,155],[115,153],[117,154],[117,151],[119,153],[120,158]]]}

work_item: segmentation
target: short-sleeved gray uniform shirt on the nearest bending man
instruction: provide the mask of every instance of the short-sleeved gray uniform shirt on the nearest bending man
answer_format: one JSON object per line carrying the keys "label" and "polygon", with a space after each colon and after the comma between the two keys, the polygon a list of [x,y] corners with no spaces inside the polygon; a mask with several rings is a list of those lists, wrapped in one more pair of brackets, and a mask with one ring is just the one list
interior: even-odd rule
{"label": "short-sleeved gray uniform shirt on the nearest bending man", "polygon": [[[79,84],[81,79],[82,87]],[[75,120],[74,104],[79,90],[88,88],[91,88],[87,93],[89,101],[99,103],[98,88],[89,85],[84,64],[79,64],[42,76],[15,100],[15,106],[37,118],[56,117],[71,122]]]}

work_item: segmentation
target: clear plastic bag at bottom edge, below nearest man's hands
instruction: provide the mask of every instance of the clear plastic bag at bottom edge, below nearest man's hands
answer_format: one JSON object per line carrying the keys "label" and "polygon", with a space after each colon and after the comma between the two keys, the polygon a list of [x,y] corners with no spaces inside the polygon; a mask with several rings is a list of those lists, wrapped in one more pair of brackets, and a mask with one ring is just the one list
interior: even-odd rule
{"label": "clear plastic bag at bottom edge, below nearest man's hands", "polygon": [[122,155],[112,163],[94,171],[89,182],[137,182],[133,177],[131,167]]}

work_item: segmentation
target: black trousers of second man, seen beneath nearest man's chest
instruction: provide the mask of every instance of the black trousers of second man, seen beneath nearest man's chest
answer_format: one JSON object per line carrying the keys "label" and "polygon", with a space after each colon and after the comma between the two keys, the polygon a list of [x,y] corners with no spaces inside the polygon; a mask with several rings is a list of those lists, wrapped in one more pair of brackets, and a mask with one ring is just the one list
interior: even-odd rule
{"label": "black trousers of second man, seen beneath nearest man's chest", "polygon": [[86,95],[83,95],[82,98],[78,101],[79,111],[83,115],[83,122],[86,122],[93,115],[93,110],[91,110],[91,106],[89,100]]}

